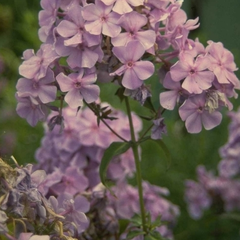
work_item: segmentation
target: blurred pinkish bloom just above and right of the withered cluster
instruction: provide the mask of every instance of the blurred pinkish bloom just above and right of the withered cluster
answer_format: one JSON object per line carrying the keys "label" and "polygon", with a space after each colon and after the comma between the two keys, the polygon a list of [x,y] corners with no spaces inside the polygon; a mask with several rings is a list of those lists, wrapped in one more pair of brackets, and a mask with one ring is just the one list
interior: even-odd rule
{"label": "blurred pinkish bloom just above and right of the withered cluster", "polygon": [[76,167],[68,167],[62,174],[61,181],[51,187],[56,194],[69,193],[76,194],[84,191],[88,187],[88,179],[83,172]]}

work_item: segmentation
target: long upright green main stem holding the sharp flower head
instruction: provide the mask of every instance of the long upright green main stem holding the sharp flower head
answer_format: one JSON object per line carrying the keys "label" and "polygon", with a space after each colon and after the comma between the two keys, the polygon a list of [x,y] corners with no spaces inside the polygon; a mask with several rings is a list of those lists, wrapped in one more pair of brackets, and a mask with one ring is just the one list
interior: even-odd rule
{"label": "long upright green main stem holding the sharp flower head", "polygon": [[130,104],[127,97],[125,97],[125,103],[126,103],[127,115],[128,115],[129,125],[130,125],[132,150],[133,150],[135,166],[136,166],[136,178],[137,178],[137,185],[138,185],[138,196],[139,196],[139,205],[140,205],[141,218],[142,218],[142,227],[143,227],[143,231],[147,232],[146,214],[145,214],[145,207],[144,207],[144,201],[143,201],[142,173],[141,173],[141,166],[140,166],[140,157],[138,153],[138,143],[136,142],[136,138],[134,134],[131,109],[130,109]]}

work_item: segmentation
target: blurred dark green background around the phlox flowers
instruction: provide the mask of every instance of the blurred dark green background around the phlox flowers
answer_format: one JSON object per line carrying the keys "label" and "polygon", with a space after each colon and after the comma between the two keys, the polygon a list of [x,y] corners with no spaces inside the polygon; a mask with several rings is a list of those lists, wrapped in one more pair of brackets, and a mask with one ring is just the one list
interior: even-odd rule
{"label": "blurred dark green background around the phlox flowers", "polygon": [[[239,0],[185,0],[183,9],[188,18],[200,17],[200,28],[191,33],[206,45],[208,40],[223,42],[235,56],[240,66],[240,1]],[[22,52],[26,49],[38,50],[39,0],[0,0],[0,157],[9,160],[13,155],[20,164],[34,162],[34,153],[40,146],[43,127],[39,123],[32,128],[25,119],[15,112],[15,85],[20,78],[18,67]],[[238,78],[240,73],[237,72]],[[115,108],[123,108],[118,100],[111,99],[112,89],[104,85],[101,99]],[[153,104],[159,105],[158,87],[153,88]],[[239,93],[239,92],[238,92]],[[110,96],[110,97],[109,97]],[[240,100],[233,100],[234,109]],[[132,102],[134,110],[140,106]],[[219,148],[227,142],[227,111],[223,112],[223,122],[211,131],[190,135],[179,120],[177,111],[167,112],[165,123],[168,128],[163,141],[171,153],[171,162],[154,143],[143,145],[143,177],[153,184],[170,189],[169,199],[181,209],[175,227],[176,240],[239,240],[240,222],[222,219],[214,207],[200,220],[193,220],[187,213],[184,202],[184,181],[196,179],[196,166],[203,164],[216,172],[220,161]],[[147,123],[145,123],[147,126]]]}

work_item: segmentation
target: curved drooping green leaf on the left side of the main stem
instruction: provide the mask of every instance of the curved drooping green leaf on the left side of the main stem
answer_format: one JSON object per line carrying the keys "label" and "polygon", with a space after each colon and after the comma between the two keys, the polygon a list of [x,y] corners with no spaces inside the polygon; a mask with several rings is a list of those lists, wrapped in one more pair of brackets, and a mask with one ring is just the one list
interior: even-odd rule
{"label": "curved drooping green leaf on the left side of the main stem", "polygon": [[113,159],[113,157],[126,152],[130,147],[131,147],[131,142],[113,142],[105,150],[102,161],[100,163],[99,172],[100,172],[101,182],[108,190],[110,190],[110,188],[109,188],[109,181],[107,180],[106,175],[107,175],[107,168],[110,161]]}

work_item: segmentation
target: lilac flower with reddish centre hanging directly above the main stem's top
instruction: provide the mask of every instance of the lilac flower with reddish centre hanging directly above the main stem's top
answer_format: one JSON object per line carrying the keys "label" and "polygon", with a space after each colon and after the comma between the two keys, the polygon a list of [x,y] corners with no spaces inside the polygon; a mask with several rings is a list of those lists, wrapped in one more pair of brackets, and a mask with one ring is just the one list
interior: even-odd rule
{"label": "lilac flower with reddish centre hanging directly above the main stem's top", "polygon": [[122,85],[125,88],[134,90],[143,84],[154,73],[154,65],[150,61],[137,61],[145,52],[144,47],[138,41],[131,41],[126,46],[114,47],[114,55],[124,65],[111,76],[123,75]]}

